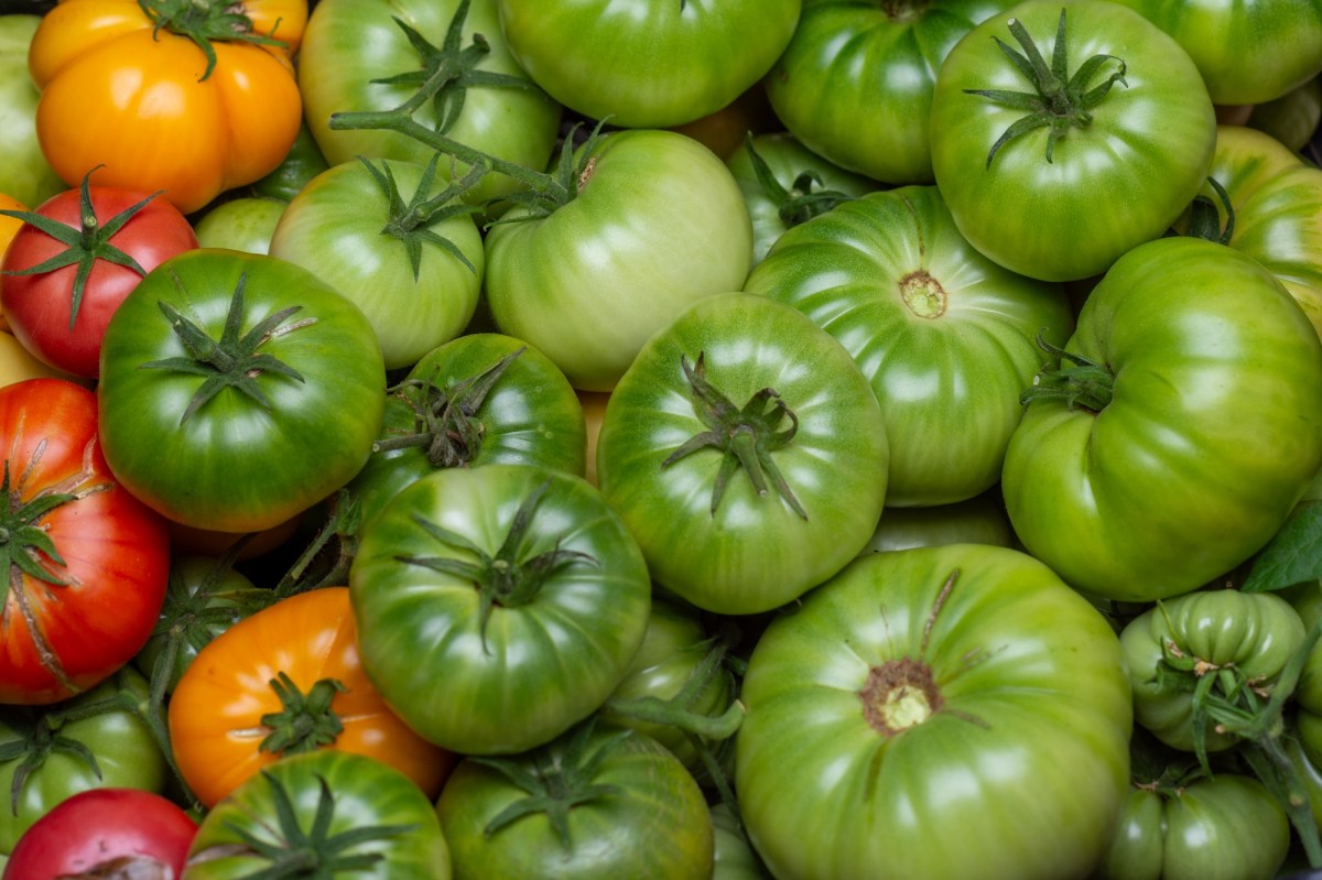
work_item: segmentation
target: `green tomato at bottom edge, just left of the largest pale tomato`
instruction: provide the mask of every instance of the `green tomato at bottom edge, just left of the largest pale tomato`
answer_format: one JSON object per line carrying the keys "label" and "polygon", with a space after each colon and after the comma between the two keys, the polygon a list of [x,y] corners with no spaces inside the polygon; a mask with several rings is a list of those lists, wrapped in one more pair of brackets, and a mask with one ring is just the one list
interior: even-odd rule
{"label": "green tomato at bottom edge, just left of the largest pale tomato", "polygon": [[711,876],[702,790],[633,731],[584,724],[535,752],[465,758],[436,813],[456,880]]}

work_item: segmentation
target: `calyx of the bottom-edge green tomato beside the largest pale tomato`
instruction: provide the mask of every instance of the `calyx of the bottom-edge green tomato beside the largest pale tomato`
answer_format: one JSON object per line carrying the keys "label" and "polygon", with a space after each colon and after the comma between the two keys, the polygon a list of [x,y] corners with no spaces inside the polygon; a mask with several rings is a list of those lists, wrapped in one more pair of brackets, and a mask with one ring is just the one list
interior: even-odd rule
{"label": "calyx of the bottom-edge green tomato beside the largest pale tomato", "polygon": [[[592,728],[590,719],[574,728],[563,744],[553,741],[535,749],[527,758],[471,757],[471,761],[498,772],[527,794],[496,814],[483,834],[489,838],[525,815],[543,813],[561,844],[572,850],[570,810],[580,803],[621,794],[620,786],[595,780],[611,751],[632,735],[632,731],[613,733],[590,752]],[[526,766],[529,761],[531,768]]]}

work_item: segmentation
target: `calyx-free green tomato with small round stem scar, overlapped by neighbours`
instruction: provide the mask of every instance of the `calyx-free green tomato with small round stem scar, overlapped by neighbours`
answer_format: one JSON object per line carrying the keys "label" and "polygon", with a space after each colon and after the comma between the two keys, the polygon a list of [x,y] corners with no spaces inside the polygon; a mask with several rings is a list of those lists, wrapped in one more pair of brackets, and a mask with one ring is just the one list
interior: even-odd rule
{"label": "calyx-free green tomato with small round stem scar, overlapped by neighbours", "polygon": [[839,205],[787,231],[746,291],[793,305],[869,378],[891,445],[886,503],[944,505],[1001,478],[1019,392],[1073,329],[1064,289],[960,234],[935,186]]}

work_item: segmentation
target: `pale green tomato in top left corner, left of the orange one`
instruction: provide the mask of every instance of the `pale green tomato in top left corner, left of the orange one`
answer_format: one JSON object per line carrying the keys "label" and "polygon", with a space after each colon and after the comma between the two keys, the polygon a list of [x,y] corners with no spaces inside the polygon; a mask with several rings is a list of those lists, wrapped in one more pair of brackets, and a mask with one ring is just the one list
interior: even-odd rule
{"label": "pale green tomato in top left corner, left of the orange one", "polygon": [[28,207],[69,189],[37,141],[41,92],[28,74],[28,46],[40,24],[36,15],[0,15],[0,193]]}

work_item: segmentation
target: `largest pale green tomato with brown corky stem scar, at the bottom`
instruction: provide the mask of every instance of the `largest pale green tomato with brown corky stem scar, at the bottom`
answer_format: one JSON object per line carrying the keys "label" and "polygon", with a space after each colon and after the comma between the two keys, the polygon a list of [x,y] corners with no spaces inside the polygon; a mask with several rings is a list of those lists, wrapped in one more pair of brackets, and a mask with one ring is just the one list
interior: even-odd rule
{"label": "largest pale green tomato with brown corky stem scar, at the bottom", "polygon": [[853,563],[771,622],[743,702],[739,806],[776,877],[1081,877],[1129,784],[1110,625],[1001,547]]}

